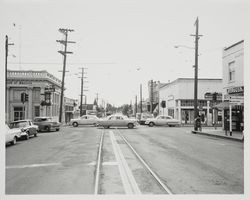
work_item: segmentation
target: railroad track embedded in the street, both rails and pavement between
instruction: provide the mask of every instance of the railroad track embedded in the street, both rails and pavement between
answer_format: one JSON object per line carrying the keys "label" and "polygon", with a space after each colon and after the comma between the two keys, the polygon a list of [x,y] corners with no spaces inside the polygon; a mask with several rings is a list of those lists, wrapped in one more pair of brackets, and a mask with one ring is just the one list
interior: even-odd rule
{"label": "railroad track embedded in the street, both rails and pavement between", "polygon": [[[173,194],[119,129],[101,130],[95,169],[95,195],[113,194],[118,190],[119,194]],[[112,159],[105,162],[104,157]],[[117,171],[116,176],[111,174],[108,177],[110,171],[113,174]],[[115,179],[113,182],[110,180],[112,178]],[[116,186],[120,189],[115,189]]]}

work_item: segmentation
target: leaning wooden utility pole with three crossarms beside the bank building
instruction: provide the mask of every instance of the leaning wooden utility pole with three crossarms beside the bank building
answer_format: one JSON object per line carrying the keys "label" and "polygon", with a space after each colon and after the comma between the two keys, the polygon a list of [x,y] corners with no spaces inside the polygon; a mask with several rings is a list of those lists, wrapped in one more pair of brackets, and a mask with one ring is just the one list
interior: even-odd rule
{"label": "leaning wooden utility pole with three crossarms beside the bank building", "polygon": [[65,78],[65,70],[66,70],[66,57],[67,54],[72,54],[73,52],[67,51],[68,43],[75,43],[73,41],[68,41],[68,32],[74,31],[73,29],[64,29],[60,28],[59,32],[65,35],[65,40],[56,40],[57,42],[64,45],[64,51],[58,51],[63,55],[63,73],[62,73],[62,86],[61,86],[61,101],[60,101],[60,110],[59,110],[59,122],[62,122],[62,107],[63,107],[63,94],[64,94],[64,78]]}

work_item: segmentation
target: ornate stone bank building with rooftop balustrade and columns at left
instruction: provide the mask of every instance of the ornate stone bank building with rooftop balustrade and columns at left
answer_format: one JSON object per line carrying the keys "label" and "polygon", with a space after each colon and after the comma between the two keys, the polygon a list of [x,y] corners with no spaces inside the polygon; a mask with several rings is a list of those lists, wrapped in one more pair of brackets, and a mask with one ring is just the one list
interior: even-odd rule
{"label": "ornate stone bank building with rooftop balustrade and columns at left", "polygon": [[[6,89],[7,123],[39,116],[58,120],[61,80],[47,71],[8,70]],[[26,94],[27,98],[22,99],[22,94]],[[62,119],[64,122],[64,106]]]}

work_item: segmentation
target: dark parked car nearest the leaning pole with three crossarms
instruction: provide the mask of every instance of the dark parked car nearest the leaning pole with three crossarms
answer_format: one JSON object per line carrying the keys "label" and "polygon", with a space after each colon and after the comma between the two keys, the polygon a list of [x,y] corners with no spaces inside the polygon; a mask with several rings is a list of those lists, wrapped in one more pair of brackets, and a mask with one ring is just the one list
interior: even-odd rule
{"label": "dark parked car nearest the leaning pole with three crossarms", "polygon": [[51,117],[36,117],[34,124],[38,126],[38,131],[59,131],[61,123],[53,120]]}

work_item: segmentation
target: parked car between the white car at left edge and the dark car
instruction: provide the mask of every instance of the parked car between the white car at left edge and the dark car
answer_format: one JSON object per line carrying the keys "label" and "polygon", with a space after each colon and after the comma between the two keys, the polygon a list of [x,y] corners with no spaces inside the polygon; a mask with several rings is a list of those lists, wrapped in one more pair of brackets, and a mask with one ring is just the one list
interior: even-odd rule
{"label": "parked car between the white car at left edge and the dark car", "polygon": [[10,129],[20,128],[22,130],[21,138],[28,140],[30,136],[36,137],[38,126],[34,125],[31,120],[13,121],[9,125]]}

